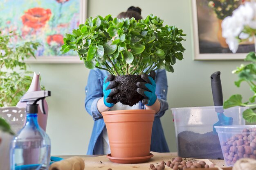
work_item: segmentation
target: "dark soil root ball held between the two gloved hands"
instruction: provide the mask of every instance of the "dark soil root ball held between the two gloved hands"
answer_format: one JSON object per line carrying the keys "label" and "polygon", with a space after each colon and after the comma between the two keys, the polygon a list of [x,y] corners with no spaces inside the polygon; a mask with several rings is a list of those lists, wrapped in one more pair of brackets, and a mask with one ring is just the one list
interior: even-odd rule
{"label": "dark soil root ball held between the two gloved hands", "polygon": [[144,97],[137,93],[137,82],[145,82],[140,76],[125,75],[115,76],[114,81],[117,82],[118,93],[113,96],[113,100],[121,102],[124,105],[133,106]]}

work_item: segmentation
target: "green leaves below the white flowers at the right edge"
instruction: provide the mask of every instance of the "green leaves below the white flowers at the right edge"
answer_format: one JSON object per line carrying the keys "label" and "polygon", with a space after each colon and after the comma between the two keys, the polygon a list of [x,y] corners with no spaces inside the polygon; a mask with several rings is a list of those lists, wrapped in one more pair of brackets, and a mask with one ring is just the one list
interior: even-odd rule
{"label": "green leaves below the white flowers at the right edge", "polygon": [[[237,87],[240,87],[240,84],[245,81],[248,83],[250,89],[254,93],[254,95],[249,98],[249,101],[247,102],[242,102],[242,95],[240,94],[235,94],[231,96],[228,100],[224,102],[224,109],[227,109],[229,107],[234,107],[234,106],[247,106],[247,107],[252,107],[251,109],[246,109],[243,112],[243,118],[247,122],[256,122],[256,103],[255,103],[255,98],[256,98],[256,55],[255,52],[250,52],[245,61],[251,61],[251,63],[247,65],[241,65],[238,67],[236,70],[233,71],[233,73],[238,74],[239,80],[235,82],[235,85]],[[252,103],[252,104],[249,104]]]}

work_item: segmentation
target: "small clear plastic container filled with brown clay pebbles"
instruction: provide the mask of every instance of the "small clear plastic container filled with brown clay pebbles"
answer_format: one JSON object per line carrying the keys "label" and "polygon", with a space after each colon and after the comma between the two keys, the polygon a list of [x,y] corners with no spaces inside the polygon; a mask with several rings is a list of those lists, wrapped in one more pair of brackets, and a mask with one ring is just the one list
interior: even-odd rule
{"label": "small clear plastic container filled with brown clay pebbles", "polygon": [[256,159],[256,125],[215,126],[227,166],[238,159]]}

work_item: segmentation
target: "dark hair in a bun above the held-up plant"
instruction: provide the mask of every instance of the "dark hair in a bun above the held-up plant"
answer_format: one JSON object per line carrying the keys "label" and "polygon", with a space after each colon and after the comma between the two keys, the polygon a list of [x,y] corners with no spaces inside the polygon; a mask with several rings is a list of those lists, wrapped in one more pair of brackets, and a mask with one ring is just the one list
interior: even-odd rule
{"label": "dark hair in a bun above the held-up plant", "polygon": [[132,18],[134,17],[135,20],[141,20],[141,9],[139,7],[129,7],[126,12],[121,12],[117,15],[117,18]]}

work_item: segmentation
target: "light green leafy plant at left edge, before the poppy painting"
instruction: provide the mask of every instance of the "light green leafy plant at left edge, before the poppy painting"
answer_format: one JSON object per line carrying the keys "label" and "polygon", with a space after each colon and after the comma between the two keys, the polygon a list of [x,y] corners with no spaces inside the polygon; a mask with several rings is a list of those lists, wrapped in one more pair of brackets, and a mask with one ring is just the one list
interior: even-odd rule
{"label": "light green leafy plant at left edge, before the poppy painting", "polygon": [[25,59],[34,56],[39,43],[12,44],[19,35],[0,32],[0,107],[16,106],[32,81]]}

